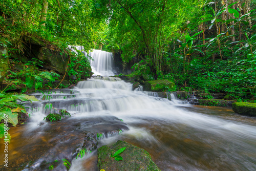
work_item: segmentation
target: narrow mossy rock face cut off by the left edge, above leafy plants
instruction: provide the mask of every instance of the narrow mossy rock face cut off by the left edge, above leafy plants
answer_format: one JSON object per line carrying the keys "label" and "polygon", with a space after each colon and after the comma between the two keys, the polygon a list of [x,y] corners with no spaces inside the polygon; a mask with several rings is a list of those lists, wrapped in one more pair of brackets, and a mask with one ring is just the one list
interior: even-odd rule
{"label": "narrow mossy rock face cut off by the left edge, above leafy plants", "polygon": [[8,51],[7,48],[0,46],[0,88],[8,70]]}

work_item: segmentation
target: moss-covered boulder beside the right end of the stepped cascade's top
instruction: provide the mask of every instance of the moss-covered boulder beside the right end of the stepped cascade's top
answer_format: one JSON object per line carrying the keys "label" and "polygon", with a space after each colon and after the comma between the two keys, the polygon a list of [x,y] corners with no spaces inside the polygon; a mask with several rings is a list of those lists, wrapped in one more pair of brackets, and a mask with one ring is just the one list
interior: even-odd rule
{"label": "moss-covered boulder beside the right end of the stepped cascade's top", "polygon": [[144,89],[145,91],[162,92],[172,90],[175,83],[167,79],[157,79],[153,81],[146,81]]}

